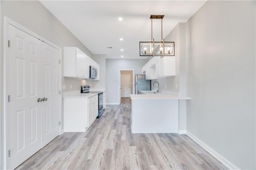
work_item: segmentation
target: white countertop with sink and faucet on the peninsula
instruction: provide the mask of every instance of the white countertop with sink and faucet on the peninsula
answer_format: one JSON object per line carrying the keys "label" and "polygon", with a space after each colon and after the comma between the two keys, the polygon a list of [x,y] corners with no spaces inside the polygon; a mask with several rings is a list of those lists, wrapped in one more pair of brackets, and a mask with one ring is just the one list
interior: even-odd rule
{"label": "white countertop with sink and faucet on the peninsula", "polygon": [[142,95],[130,95],[130,98],[132,100],[143,100],[143,99],[173,99],[173,100],[181,100],[181,99],[190,99],[190,97],[186,96],[180,96],[177,92],[171,92],[171,91],[163,91],[161,93],[152,93],[156,91],[140,91],[143,94]]}

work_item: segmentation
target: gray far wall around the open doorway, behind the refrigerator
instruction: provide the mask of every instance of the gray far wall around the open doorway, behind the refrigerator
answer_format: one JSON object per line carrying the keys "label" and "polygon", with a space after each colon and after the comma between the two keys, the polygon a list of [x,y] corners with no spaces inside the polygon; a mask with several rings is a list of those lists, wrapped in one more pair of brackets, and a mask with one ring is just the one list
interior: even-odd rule
{"label": "gray far wall around the open doorway, behind the refrigerator", "polygon": [[147,59],[106,59],[106,103],[119,103],[119,69],[134,69],[134,74],[141,74],[141,68]]}

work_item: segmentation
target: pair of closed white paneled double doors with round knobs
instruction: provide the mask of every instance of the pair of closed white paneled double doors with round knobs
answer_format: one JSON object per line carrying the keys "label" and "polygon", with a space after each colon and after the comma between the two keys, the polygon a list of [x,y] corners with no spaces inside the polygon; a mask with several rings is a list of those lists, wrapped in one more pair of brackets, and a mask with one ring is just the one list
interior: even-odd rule
{"label": "pair of closed white paneled double doors with round knobs", "polygon": [[60,66],[58,49],[10,24],[8,39],[6,168],[14,169],[59,135]]}

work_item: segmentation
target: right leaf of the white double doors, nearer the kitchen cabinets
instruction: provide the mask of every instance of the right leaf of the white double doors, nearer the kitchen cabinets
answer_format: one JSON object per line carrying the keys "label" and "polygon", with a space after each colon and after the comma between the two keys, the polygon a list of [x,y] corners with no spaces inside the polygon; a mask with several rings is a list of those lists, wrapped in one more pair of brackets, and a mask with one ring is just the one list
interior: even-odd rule
{"label": "right leaf of the white double doors, nearer the kitchen cabinets", "polygon": [[[42,147],[59,135],[59,50],[42,42]],[[47,99],[47,100],[46,100]]]}

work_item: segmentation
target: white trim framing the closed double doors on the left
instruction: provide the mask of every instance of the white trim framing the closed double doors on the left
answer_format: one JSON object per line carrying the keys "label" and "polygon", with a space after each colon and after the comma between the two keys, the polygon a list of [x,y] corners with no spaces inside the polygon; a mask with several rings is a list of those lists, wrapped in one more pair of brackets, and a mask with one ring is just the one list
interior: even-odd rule
{"label": "white trim framing the closed double doors on the left", "polygon": [[[11,20],[10,18],[4,16],[4,39],[3,39],[3,63],[4,63],[4,67],[3,67],[3,111],[4,113],[1,115],[2,119],[0,119],[0,125],[1,125],[1,146],[0,146],[0,151],[1,151],[1,157],[0,157],[0,169],[6,169],[6,139],[7,139],[7,135],[6,134],[6,113],[8,111],[7,108],[7,92],[8,92],[8,86],[6,86],[6,83],[8,82],[8,71],[6,69],[6,64],[8,63],[8,25],[12,25],[20,30],[22,30],[23,32],[26,32],[27,34],[47,43],[48,45],[51,45],[52,47],[58,49],[60,51],[60,91],[62,90],[61,85],[62,85],[62,49],[60,47],[58,47],[57,45],[55,45],[54,43],[51,43],[50,41],[46,40],[45,38],[42,38],[41,36],[39,36],[38,34],[32,32],[31,30],[29,30],[28,28],[25,28],[24,26],[18,24],[17,22]],[[61,91],[62,92],[62,91]],[[62,93],[60,93],[60,121],[62,120]],[[60,131],[59,134],[61,134],[62,129],[60,127]]]}

